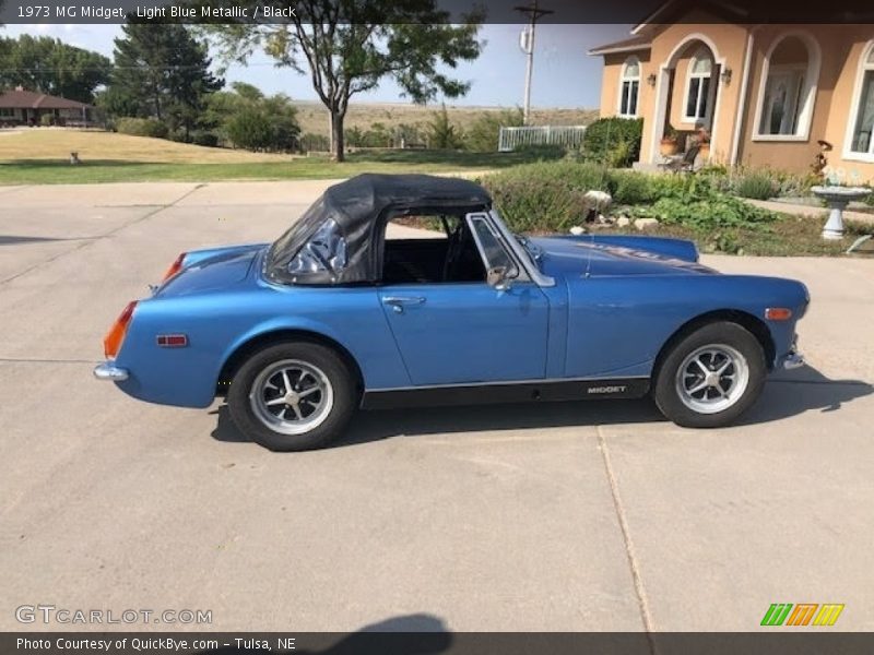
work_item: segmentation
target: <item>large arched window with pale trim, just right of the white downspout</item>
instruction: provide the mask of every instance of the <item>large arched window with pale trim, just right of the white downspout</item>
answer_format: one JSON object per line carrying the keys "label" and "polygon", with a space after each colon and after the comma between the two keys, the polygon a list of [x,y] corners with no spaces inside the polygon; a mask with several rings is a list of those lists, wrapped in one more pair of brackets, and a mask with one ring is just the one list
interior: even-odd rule
{"label": "large arched window with pale trim, just right of the white downspout", "polygon": [[807,138],[819,76],[819,49],[810,38],[788,35],[765,59],[756,136]]}

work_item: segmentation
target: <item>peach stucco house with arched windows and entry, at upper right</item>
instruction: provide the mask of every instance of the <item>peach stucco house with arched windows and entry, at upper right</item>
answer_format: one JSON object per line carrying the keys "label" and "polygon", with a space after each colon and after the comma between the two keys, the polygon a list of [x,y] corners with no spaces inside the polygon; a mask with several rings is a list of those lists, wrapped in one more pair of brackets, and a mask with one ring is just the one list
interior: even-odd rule
{"label": "peach stucco house with arched windows and entry, at upper right", "polygon": [[[604,59],[601,116],[643,119],[639,167],[663,162],[673,127],[710,132],[709,158],[874,181],[874,24],[749,24],[731,2],[673,0]],[[681,150],[683,145],[681,144]]]}

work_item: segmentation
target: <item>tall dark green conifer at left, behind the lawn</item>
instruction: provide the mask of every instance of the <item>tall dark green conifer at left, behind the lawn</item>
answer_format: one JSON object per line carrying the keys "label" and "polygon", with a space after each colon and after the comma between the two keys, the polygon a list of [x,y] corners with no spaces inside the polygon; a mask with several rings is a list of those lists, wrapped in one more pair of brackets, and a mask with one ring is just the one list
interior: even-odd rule
{"label": "tall dark green conifer at left, behind the lawn", "polygon": [[115,40],[115,63],[105,108],[117,116],[156,118],[188,140],[205,99],[224,86],[210,72],[206,45],[185,26],[129,17]]}

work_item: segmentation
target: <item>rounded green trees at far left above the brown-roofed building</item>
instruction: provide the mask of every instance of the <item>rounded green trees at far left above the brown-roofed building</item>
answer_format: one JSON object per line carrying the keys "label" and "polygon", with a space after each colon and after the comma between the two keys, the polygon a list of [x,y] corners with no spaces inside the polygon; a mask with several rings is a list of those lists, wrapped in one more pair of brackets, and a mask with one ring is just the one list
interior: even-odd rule
{"label": "rounded green trees at far left above the brown-roofed building", "polygon": [[94,100],[94,91],[109,81],[113,62],[98,52],[69,46],[48,36],[22,34],[0,38],[0,86],[81,103]]}

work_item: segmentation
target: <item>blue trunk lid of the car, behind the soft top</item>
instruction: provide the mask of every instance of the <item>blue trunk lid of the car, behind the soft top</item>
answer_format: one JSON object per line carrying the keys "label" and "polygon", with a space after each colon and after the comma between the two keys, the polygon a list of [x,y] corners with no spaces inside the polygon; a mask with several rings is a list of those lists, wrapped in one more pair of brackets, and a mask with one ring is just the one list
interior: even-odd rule
{"label": "blue trunk lid of the car, behind the soft top", "polygon": [[224,290],[243,283],[252,262],[269,243],[251,243],[193,250],[182,260],[182,270],[165,282],[155,296],[185,296]]}

